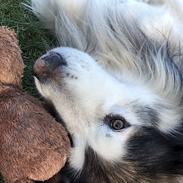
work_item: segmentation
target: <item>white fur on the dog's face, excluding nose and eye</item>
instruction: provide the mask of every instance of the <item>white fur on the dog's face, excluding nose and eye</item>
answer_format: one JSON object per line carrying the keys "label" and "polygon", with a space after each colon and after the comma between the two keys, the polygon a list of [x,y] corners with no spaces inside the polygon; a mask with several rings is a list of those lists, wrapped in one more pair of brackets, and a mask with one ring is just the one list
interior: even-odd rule
{"label": "white fur on the dog's face, excluding nose and eye", "polygon": [[[41,85],[37,79],[36,86],[45,98],[53,102],[73,135],[75,147],[71,150],[71,166],[82,169],[87,147],[106,161],[120,161],[126,153],[125,144],[135,128],[152,125],[142,124],[133,111],[133,103],[138,101],[151,106],[160,98],[144,86],[116,80],[83,52],[71,48],[52,51],[61,54],[67,61],[68,66],[62,72],[77,76],[77,79],[62,78],[65,84],[61,90],[54,85]],[[102,124],[105,115],[110,113],[123,116],[132,127],[113,132]],[[176,122],[179,116],[167,115],[167,111],[161,115],[163,120],[159,128],[165,132],[172,130],[175,126],[172,121]]]}

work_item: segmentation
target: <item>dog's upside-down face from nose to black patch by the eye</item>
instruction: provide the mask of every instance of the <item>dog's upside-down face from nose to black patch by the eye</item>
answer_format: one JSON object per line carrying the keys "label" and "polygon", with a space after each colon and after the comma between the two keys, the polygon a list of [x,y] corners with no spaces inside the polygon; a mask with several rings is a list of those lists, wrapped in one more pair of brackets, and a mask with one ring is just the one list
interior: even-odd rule
{"label": "dog's upside-down face from nose to black patch by the eye", "polygon": [[152,171],[159,171],[165,156],[170,160],[163,166],[171,163],[174,149],[164,135],[177,128],[181,113],[138,78],[120,79],[71,48],[51,50],[34,70],[39,92],[54,104],[73,136],[74,168],[83,167],[88,147],[110,163],[128,159]]}

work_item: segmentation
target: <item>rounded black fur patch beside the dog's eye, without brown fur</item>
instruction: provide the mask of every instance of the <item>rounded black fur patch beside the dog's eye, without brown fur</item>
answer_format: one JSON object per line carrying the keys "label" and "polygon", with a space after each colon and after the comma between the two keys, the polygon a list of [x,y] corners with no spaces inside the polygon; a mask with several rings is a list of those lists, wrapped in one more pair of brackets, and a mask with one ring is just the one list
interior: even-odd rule
{"label": "rounded black fur patch beside the dog's eye, without brown fur", "polygon": [[[172,136],[173,137],[173,136]],[[128,142],[126,160],[147,177],[183,173],[183,144],[153,128],[142,128]]]}

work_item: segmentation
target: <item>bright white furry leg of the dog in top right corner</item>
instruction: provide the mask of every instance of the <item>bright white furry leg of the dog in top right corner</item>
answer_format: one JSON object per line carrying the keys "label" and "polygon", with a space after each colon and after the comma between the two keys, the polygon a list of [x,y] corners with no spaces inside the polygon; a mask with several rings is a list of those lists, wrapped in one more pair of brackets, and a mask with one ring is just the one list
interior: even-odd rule
{"label": "bright white furry leg of the dog in top right corner", "polygon": [[[161,6],[133,2],[121,5],[121,16],[133,19],[143,32],[154,40],[169,39],[172,45],[180,46],[183,42],[183,2],[181,0],[164,0]],[[127,13],[124,14],[123,12]],[[178,41],[179,40],[179,41]]]}

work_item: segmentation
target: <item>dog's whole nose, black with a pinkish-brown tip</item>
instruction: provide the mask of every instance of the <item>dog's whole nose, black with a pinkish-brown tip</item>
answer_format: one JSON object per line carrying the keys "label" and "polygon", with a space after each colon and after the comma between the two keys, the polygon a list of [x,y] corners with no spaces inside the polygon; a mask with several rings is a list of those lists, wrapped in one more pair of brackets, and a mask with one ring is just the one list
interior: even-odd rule
{"label": "dog's whole nose, black with a pinkish-brown tip", "polygon": [[34,75],[40,78],[42,76],[49,76],[59,66],[66,65],[66,61],[60,54],[56,52],[50,52],[35,62],[33,71]]}

